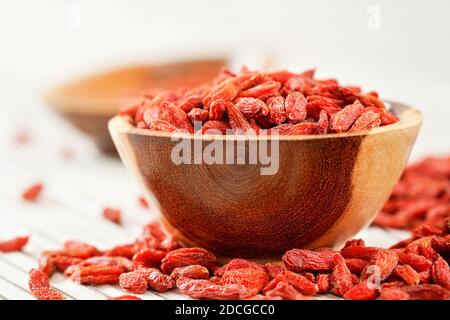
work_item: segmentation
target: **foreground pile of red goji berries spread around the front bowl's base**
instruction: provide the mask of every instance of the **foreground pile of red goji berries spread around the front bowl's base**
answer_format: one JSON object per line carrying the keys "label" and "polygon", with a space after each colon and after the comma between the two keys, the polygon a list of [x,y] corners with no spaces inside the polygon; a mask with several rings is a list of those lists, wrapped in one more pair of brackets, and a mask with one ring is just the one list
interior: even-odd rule
{"label": "foreground pile of red goji berries spread around the front bowl's base", "polygon": [[[203,248],[185,248],[159,224],[130,244],[100,251],[68,241],[42,254],[30,271],[38,299],[63,299],[49,276],[61,272],[82,285],[118,284],[129,294],[173,288],[196,299],[307,299],[332,293],[348,299],[450,297],[450,226],[421,225],[391,249],[347,241],[344,249],[293,249],[277,263],[232,259],[220,266]],[[124,295],[115,300],[138,299]]]}

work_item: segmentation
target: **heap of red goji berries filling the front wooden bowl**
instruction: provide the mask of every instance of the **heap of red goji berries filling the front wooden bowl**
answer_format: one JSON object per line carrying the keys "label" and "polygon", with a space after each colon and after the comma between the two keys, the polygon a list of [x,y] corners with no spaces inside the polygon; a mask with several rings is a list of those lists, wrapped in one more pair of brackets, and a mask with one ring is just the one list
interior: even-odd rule
{"label": "heap of red goji berries filling the front wooden bowl", "polygon": [[245,67],[238,74],[225,69],[192,90],[147,95],[119,114],[130,116],[137,128],[202,134],[353,133],[398,121],[374,91],[315,79],[314,70],[262,73]]}

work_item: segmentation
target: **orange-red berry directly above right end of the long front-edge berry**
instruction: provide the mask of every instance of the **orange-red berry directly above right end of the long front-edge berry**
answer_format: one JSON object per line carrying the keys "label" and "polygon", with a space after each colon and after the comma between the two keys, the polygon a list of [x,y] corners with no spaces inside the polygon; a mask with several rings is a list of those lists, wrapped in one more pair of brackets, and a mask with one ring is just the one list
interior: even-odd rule
{"label": "orange-red berry directly above right end of the long front-edge berry", "polygon": [[255,268],[241,268],[225,271],[220,284],[240,284],[250,290],[259,292],[268,281],[269,276],[264,270]]}

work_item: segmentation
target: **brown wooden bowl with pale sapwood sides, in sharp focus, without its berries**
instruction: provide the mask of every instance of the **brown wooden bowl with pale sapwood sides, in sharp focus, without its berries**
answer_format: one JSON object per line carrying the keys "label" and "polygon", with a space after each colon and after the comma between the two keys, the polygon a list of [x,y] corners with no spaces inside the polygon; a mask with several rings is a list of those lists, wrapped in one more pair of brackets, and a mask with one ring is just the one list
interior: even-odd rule
{"label": "brown wooden bowl with pale sapwood sides, in sharp focus, without its berries", "polygon": [[[170,134],[115,117],[109,130],[123,162],[188,244],[232,257],[276,258],[292,248],[339,247],[367,226],[400,178],[421,126],[392,104],[396,124],[359,134],[281,136],[279,170],[260,164],[175,164]],[[189,136],[254,141],[255,136]],[[265,138],[273,139],[273,138]],[[248,156],[248,144],[246,152]]]}

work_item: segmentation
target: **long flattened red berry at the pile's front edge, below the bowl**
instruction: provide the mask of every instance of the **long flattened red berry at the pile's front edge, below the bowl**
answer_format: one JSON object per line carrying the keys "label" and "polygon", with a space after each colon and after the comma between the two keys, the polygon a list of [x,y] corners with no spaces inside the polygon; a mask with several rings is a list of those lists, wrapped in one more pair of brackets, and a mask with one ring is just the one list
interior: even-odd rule
{"label": "long flattened red berry at the pile's front edge, below the bowl", "polygon": [[194,299],[241,300],[253,297],[256,292],[240,285],[218,285],[209,280],[181,277],[177,280],[181,293]]}

